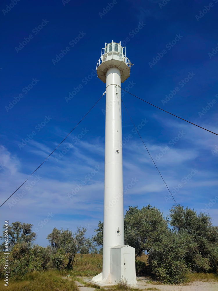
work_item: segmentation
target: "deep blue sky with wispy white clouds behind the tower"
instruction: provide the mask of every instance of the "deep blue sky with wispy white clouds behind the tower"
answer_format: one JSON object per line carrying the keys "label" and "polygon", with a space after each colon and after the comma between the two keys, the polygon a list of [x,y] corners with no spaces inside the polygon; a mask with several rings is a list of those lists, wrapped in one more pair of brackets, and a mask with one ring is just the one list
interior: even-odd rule
{"label": "deep blue sky with wispy white clouds behind the tower", "polygon": [[[218,1],[108,3],[112,1],[1,2],[1,204],[105,91],[95,70],[105,42],[126,41],[134,66],[122,88],[218,132]],[[73,90],[78,91],[74,97],[65,98]],[[122,99],[176,202],[198,213],[207,208],[218,225],[217,136],[128,93]],[[1,207],[2,224],[32,223],[33,230],[38,228],[36,242],[43,246],[54,227],[74,231],[81,225],[88,228],[87,235],[94,234],[103,220],[104,109],[105,95]],[[124,107],[122,122],[124,208],[149,203],[166,216],[174,200],[168,199]],[[30,140],[22,145],[26,138]],[[138,181],[130,188],[132,179]]]}

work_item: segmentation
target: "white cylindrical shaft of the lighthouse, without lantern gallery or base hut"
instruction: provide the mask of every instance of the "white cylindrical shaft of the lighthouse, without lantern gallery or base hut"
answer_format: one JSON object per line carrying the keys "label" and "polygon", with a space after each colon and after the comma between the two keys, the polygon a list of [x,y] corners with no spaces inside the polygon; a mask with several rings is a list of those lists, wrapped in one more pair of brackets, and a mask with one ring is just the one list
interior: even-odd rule
{"label": "white cylindrical shaft of the lighthouse, without lantern gallery or base hut", "polygon": [[105,121],[103,278],[110,274],[110,248],[124,245],[121,77],[117,68],[108,69],[106,75]]}

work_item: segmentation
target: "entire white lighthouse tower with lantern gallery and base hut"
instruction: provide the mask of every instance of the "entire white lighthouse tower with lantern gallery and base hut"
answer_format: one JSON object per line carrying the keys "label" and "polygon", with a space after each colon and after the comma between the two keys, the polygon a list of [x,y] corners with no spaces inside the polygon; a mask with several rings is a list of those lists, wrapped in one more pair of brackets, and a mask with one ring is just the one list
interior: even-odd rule
{"label": "entire white lighthouse tower with lantern gallery and base hut", "polygon": [[106,43],[97,63],[106,83],[103,272],[92,281],[116,284],[125,278],[136,285],[135,249],[124,244],[121,83],[130,76],[131,62],[121,42]]}

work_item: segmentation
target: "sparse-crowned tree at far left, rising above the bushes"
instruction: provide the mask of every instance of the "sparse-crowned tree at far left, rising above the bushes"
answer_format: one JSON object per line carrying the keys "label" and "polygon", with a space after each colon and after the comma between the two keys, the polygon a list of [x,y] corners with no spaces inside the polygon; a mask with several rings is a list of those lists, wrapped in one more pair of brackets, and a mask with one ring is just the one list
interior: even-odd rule
{"label": "sparse-crowned tree at far left, rising above the bushes", "polygon": [[[32,226],[33,224],[30,223],[12,222],[8,226],[8,247],[11,248],[21,242],[32,243],[36,239],[36,233],[32,232]],[[5,226],[3,226],[3,229],[5,229]],[[5,231],[3,231],[3,236],[0,237],[1,239],[4,238],[4,234]],[[2,244],[3,247],[4,243]]]}

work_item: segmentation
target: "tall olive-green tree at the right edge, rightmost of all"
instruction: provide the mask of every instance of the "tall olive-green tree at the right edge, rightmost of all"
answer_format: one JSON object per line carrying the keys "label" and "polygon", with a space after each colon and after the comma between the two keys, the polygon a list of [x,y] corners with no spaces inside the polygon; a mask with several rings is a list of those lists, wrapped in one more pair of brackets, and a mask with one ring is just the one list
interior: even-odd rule
{"label": "tall olive-green tree at the right edge, rightmost of all", "polygon": [[172,207],[169,224],[173,230],[187,233],[196,247],[190,251],[186,264],[197,272],[207,272],[218,268],[218,227],[212,225],[212,218],[206,213],[197,215],[194,209],[179,205]]}

